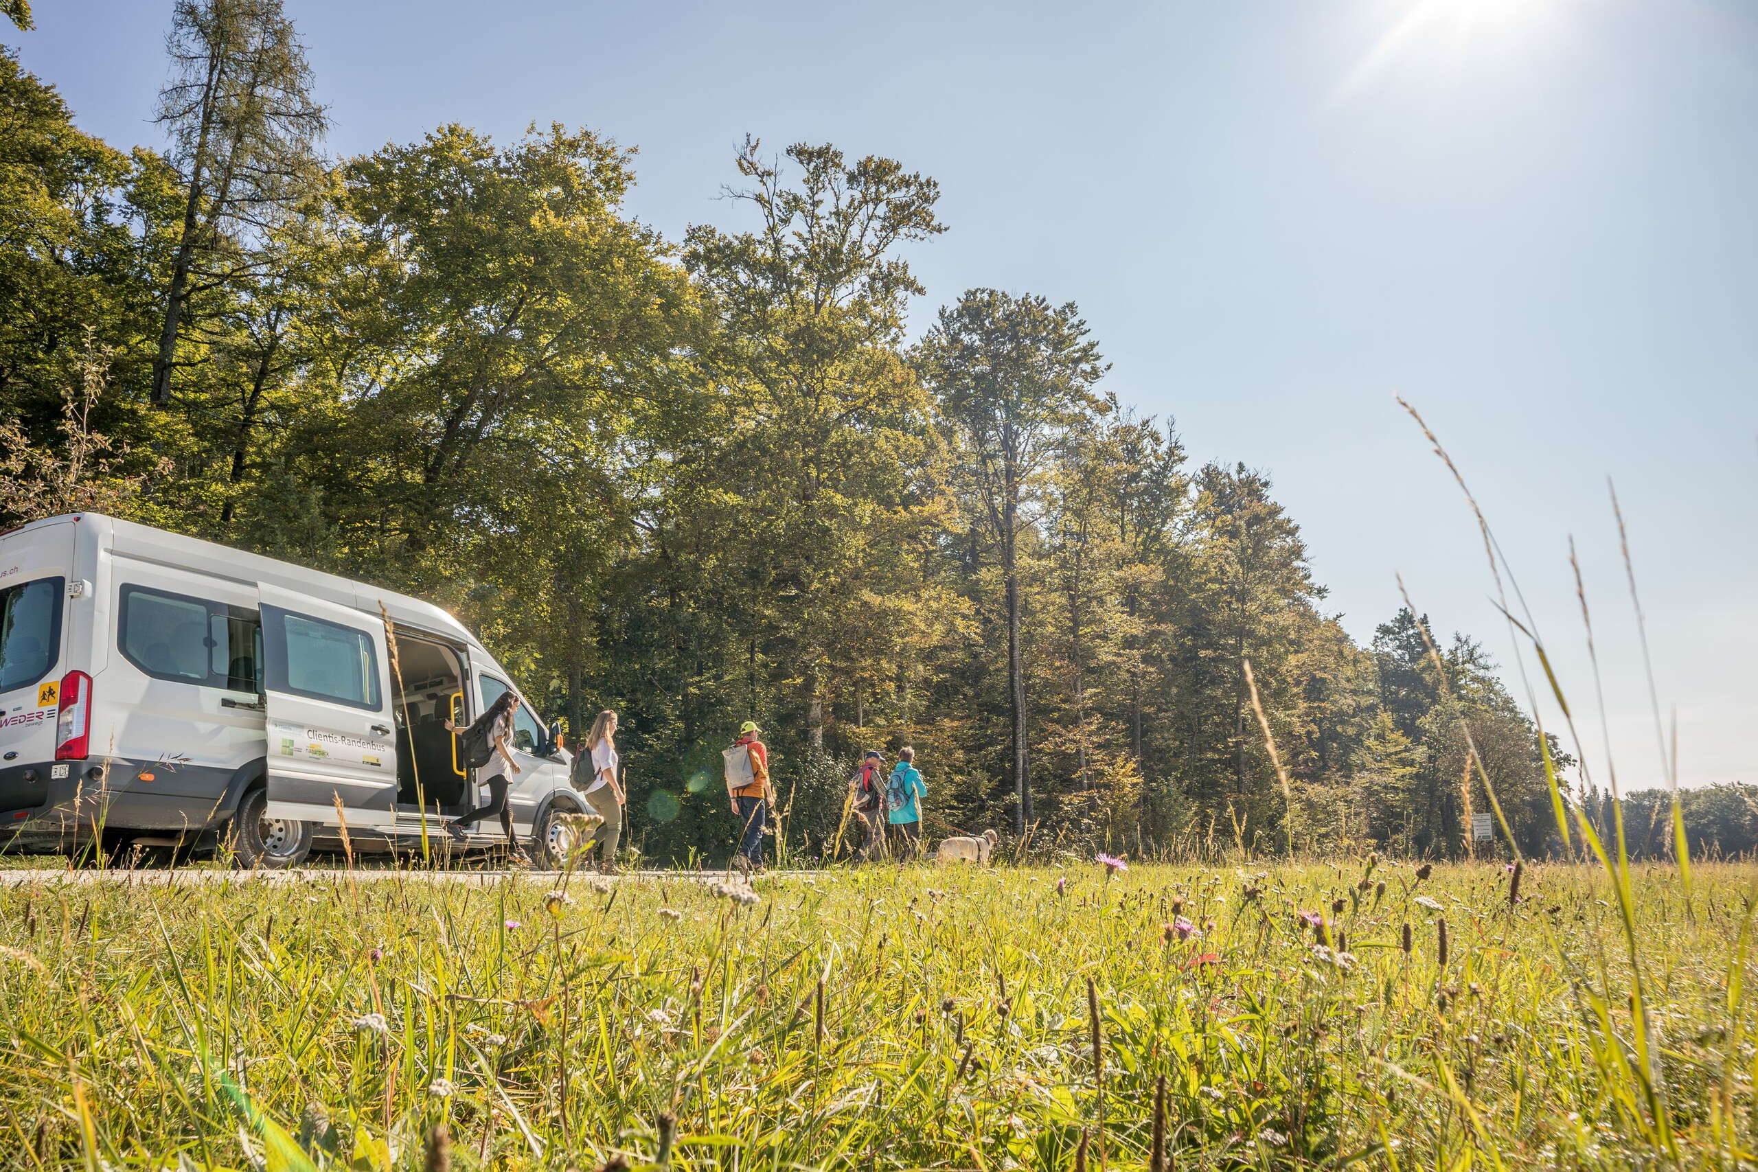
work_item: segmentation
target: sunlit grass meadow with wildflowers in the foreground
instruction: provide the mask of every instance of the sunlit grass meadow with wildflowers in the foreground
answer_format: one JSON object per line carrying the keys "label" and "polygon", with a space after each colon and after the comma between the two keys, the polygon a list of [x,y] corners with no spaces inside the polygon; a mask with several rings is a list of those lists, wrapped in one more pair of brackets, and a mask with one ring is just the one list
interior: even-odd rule
{"label": "sunlit grass meadow with wildflowers in the foreground", "polygon": [[5,1168],[1754,1158],[1740,865],[4,877]]}

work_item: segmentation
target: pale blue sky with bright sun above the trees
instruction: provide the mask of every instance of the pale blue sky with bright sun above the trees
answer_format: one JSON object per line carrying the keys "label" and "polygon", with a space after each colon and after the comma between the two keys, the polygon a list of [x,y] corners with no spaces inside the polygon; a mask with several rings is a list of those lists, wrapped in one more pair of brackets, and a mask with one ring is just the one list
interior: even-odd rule
{"label": "pale blue sky with bright sun above the trees", "polygon": [[[156,144],[169,0],[35,7],[37,32],[0,39],[86,130]],[[445,121],[585,125],[640,148],[631,206],[673,237],[735,220],[717,193],[747,132],[932,174],[951,230],[911,253],[918,325],[977,285],[1079,302],[1118,397],[1195,459],[1275,478],[1357,638],[1401,573],[1519,689],[1475,524],[1405,395],[1591,713],[1573,536],[1609,742],[1642,785],[1661,752],[1616,478],[1681,780],[1758,782],[1758,5],[287,9],[336,155]]]}

